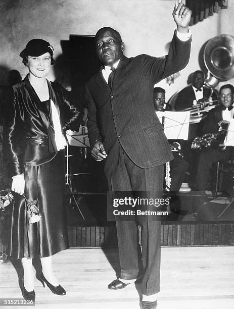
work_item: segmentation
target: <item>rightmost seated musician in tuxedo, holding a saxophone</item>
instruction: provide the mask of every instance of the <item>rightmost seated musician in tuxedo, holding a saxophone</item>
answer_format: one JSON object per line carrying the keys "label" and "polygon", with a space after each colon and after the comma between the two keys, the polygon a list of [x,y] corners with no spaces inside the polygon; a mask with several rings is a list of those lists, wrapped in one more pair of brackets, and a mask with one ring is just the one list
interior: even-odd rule
{"label": "rightmost seated musician in tuxedo, holding a saxophone", "polygon": [[[220,127],[226,130],[230,119],[233,118],[233,94],[234,88],[231,84],[223,85],[219,89],[219,105],[208,112],[204,122],[202,133],[217,133]],[[225,136],[225,135],[224,135]],[[220,142],[223,142],[224,136]],[[199,191],[205,191],[209,179],[212,164],[218,161],[228,160],[230,147],[205,148],[200,152],[196,183]]]}

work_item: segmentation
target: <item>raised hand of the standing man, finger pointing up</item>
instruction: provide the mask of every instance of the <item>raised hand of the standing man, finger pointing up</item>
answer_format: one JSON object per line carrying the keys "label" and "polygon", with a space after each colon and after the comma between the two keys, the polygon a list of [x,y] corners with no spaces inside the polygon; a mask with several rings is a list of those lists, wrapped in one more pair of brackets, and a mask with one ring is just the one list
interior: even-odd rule
{"label": "raised hand of the standing man, finger pointing up", "polygon": [[182,0],[175,0],[175,7],[172,15],[177,25],[177,31],[180,33],[188,33],[192,11],[185,7],[181,1]]}

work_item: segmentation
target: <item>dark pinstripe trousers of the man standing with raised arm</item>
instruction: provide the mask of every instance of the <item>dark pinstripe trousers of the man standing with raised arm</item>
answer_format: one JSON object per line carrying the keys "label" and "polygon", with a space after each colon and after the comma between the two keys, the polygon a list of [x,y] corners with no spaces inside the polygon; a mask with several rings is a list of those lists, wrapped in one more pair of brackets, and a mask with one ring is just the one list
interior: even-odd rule
{"label": "dark pinstripe trousers of the man standing with raised arm", "polygon": [[[120,144],[118,150],[118,167],[114,175],[108,179],[109,190],[144,191],[147,198],[161,198],[163,165],[148,169],[139,168],[129,159]],[[129,218],[123,220],[115,216],[120,278],[135,279],[141,276],[143,294],[155,294],[159,292],[160,283],[161,221],[146,215],[135,216],[133,220],[127,219]],[[141,226],[140,258],[138,225]]]}

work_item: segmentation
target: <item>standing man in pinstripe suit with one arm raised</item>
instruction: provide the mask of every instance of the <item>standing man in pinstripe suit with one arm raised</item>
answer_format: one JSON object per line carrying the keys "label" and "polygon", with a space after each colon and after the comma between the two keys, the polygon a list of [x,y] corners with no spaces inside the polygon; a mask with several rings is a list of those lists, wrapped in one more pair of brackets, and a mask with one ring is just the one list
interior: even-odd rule
{"label": "standing man in pinstripe suit with one arm raised", "polygon": [[[177,31],[168,56],[161,58],[148,55],[126,58],[124,43],[116,30],[105,27],[96,34],[96,50],[104,67],[86,84],[87,127],[91,155],[97,161],[106,159],[105,174],[112,192],[145,191],[147,198],[156,198],[162,191],[163,164],[173,157],[154,112],[153,88],[155,83],[188,64],[191,45],[188,34],[191,11],[177,3],[173,17]],[[139,224],[143,263],[141,306],[156,308],[160,222],[152,216],[129,217],[115,218],[121,274],[108,288],[124,288],[139,277]]]}

